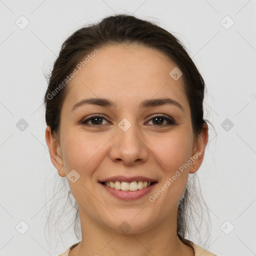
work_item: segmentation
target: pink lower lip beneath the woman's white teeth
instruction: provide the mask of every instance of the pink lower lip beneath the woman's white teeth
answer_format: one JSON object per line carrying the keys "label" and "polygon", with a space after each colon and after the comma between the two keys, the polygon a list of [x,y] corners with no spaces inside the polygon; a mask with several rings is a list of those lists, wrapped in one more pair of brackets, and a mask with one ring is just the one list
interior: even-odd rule
{"label": "pink lower lip beneath the woman's white teeth", "polygon": [[142,196],[148,194],[154,188],[156,183],[157,182],[154,182],[150,186],[147,186],[147,187],[142,188],[142,189],[137,189],[135,191],[123,191],[121,189],[114,189],[114,188],[108,187],[108,186],[103,185],[101,183],[99,183],[99,184],[102,185],[106,189],[106,191],[108,191],[111,195],[115,196],[118,199],[135,200],[135,199],[139,199]]}

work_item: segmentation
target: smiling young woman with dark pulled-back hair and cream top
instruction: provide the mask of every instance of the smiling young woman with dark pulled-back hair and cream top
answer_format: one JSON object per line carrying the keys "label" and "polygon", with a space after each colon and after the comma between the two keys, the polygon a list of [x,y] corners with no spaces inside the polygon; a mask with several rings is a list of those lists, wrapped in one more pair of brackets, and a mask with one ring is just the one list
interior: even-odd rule
{"label": "smiling young woman with dark pulled-back hair and cream top", "polygon": [[203,97],[184,47],[151,22],[114,15],[66,39],[44,97],[50,158],[80,217],[62,256],[214,255],[184,237]]}

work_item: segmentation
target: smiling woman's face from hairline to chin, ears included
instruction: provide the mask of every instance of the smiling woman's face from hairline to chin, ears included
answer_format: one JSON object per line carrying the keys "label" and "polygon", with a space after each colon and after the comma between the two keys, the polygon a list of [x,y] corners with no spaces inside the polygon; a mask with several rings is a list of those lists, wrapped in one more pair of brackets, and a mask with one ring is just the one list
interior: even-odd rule
{"label": "smiling woman's face from hairline to chin, ears included", "polygon": [[[80,219],[116,232],[121,232],[121,223],[127,225],[123,221],[133,232],[149,230],[163,221],[176,222],[177,203],[188,173],[196,171],[202,160],[196,151],[202,154],[205,144],[205,139],[194,143],[182,76],[174,80],[169,72],[175,63],[155,49],[107,45],[98,50],[67,85],[55,151],[46,130],[51,160],[61,176],[68,177],[73,171],[71,180],[75,182],[67,180]],[[73,107],[88,98],[105,98],[113,105],[101,101],[101,105]],[[156,98],[176,103],[140,105]],[[191,164],[193,155],[197,157]],[[182,164],[186,164],[183,171]],[[123,177],[114,178],[117,175]],[[125,181],[124,177],[143,180],[138,176],[155,182],[136,191],[121,191],[99,182],[108,178]]]}

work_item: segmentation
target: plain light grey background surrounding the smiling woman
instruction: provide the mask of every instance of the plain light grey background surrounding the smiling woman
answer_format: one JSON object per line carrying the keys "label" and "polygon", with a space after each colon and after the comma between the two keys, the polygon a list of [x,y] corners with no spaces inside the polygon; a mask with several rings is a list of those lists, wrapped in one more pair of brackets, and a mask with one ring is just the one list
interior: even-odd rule
{"label": "plain light grey background surrounding the smiling woman", "polygon": [[[54,250],[42,230],[52,196],[50,184],[45,195],[44,180],[56,172],[44,138],[43,72],[68,35],[122,12],[175,32],[201,72],[208,90],[204,117],[217,134],[209,125],[197,171],[212,221],[207,249],[256,255],[255,0],[0,0],[0,255],[57,255],[76,241],[69,234]],[[15,23],[25,24],[21,15],[29,21],[24,29]],[[234,21],[228,29],[227,15]],[[23,131],[16,126],[21,118],[28,123]],[[226,118],[233,123],[228,130],[221,126]],[[24,227],[20,221],[29,226],[24,234],[15,228]]]}

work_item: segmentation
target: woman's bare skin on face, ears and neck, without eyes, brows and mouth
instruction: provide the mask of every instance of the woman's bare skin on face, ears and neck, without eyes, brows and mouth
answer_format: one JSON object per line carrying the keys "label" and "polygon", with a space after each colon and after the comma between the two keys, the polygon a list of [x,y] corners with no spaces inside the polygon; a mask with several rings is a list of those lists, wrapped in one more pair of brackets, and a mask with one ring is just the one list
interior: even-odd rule
{"label": "woman's bare skin on face, ears and neck, without eyes, brows and mouth", "polygon": [[[190,109],[182,86],[182,76],[174,80],[169,72],[176,65],[158,50],[141,45],[105,45],[67,85],[60,115],[60,133],[54,136],[49,126],[45,139],[50,158],[60,176],[75,169],[80,177],[68,184],[77,204],[82,240],[69,256],[75,255],[194,255],[176,234],[177,203],[187,183],[203,160],[208,140],[207,124],[194,140]],[[115,107],[86,104],[72,106],[88,97],[104,97]],[[175,105],[139,108],[144,99],[169,97]],[[154,114],[172,117],[176,125]],[[100,126],[79,121],[100,114]],[[123,131],[118,123],[126,118],[131,127]],[[95,127],[92,127],[94,124]],[[98,125],[98,126],[96,126]],[[174,175],[179,166],[199,151],[201,154],[168,188],[150,202]],[[194,168],[195,167],[195,168]],[[157,184],[142,198],[124,201],[107,193],[97,180],[114,175],[143,175]],[[126,221],[127,233],[118,226]]]}

